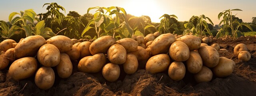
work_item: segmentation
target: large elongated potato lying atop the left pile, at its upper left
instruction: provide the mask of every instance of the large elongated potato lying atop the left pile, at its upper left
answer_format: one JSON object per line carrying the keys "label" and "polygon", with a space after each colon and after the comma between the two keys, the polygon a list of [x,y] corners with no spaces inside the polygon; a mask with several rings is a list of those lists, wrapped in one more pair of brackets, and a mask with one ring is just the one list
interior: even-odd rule
{"label": "large elongated potato lying atop the left pile, at its upper left", "polygon": [[14,54],[17,58],[34,57],[44,44],[46,44],[46,40],[42,36],[28,36],[17,44]]}

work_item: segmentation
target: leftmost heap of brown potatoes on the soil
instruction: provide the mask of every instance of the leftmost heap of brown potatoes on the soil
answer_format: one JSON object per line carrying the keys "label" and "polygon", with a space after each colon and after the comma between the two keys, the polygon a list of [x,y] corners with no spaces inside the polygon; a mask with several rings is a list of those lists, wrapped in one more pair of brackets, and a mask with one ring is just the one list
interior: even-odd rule
{"label": "leftmost heap of brown potatoes on the soil", "polygon": [[46,90],[54,84],[53,67],[60,78],[72,74],[71,60],[78,60],[80,56],[79,50],[72,45],[70,38],[61,35],[48,40],[39,35],[28,36],[18,43],[6,39],[0,43],[0,69],[6,68],[10,62],[8,74],[14,80],[35,76],[36,86]]}

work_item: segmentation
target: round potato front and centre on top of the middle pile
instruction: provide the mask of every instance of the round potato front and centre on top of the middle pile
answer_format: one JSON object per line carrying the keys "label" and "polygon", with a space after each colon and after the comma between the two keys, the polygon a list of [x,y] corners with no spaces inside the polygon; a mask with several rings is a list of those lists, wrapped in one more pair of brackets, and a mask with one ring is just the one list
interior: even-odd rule
{"label": "round potato front and centre on top of the middle pile", "polygon": [[126,50],[120,44],[114,44],[108,49],[108,60],[114,64],[123,64],[126,61]]}

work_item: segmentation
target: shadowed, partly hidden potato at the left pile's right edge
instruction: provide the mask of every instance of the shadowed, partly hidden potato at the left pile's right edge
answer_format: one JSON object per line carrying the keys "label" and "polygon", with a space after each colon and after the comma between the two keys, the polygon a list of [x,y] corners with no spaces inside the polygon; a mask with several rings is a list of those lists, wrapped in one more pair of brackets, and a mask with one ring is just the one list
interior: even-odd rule
{"label": "shadowed, partly hidden potato at the left pile's right edge", "polygon": [[71,61],[75,61],[78,60],[80,57],[80,50],[78,50],[76,46],[72,46],[72,49],[66,52],[66,54],[68,54]]}

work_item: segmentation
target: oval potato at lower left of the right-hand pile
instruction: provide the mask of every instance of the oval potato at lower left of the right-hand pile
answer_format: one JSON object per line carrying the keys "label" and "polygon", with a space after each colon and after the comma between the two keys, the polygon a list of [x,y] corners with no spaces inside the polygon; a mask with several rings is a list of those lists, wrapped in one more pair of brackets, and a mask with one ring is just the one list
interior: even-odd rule
{"label": "oval potato at lower left of the right-hand pile", "polygon": [[158,54],[149,58],[146,63],[146,70],[155,74],[167,70],[170,65],[170,58],[167,54]]}

